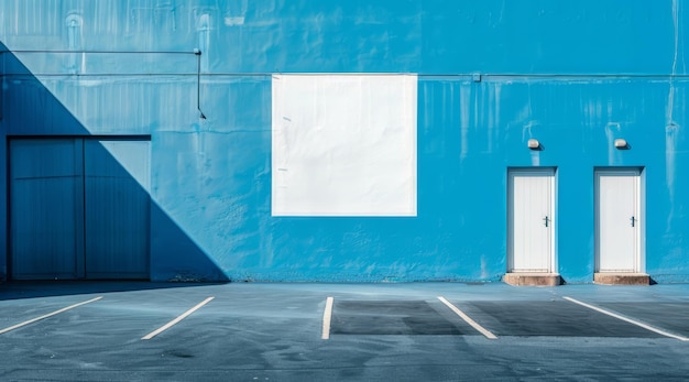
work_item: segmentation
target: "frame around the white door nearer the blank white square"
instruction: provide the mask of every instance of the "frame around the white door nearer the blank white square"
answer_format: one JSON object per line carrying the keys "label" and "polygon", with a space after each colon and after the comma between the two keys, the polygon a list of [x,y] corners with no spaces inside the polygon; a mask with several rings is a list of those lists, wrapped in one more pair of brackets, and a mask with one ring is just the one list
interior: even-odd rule
{"label": "frame around the white door nearer the blank white square", "polygon": [[[548,269],[543,271],[520,271],[514,269],[514,176],[551,176],[550,183],[550,212],[553,230],[550,231],[550,255]],[[557,167],[507,167],[507,272],[508,273],[554,273],[557,263]]]}

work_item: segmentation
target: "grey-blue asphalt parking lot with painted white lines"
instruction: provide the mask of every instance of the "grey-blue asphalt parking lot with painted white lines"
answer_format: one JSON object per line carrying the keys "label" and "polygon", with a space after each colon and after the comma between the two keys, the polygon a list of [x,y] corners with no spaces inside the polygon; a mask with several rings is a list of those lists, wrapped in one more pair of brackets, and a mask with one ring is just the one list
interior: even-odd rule
{"label": "grey-blue asphalt parking lot with painted white lines", "polygon": [[689,285],[0,284],[2,381],[686,380]]}

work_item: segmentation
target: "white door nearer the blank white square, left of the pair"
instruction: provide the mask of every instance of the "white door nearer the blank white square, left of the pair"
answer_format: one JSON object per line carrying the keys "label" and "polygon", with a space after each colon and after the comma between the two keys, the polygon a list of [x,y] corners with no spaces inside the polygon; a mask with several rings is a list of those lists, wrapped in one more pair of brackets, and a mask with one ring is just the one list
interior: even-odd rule
{"label": "white door nearer the blank white square, left of the pair", "polygon": [[555,171],[510,171],[510,272],[553,272]]}

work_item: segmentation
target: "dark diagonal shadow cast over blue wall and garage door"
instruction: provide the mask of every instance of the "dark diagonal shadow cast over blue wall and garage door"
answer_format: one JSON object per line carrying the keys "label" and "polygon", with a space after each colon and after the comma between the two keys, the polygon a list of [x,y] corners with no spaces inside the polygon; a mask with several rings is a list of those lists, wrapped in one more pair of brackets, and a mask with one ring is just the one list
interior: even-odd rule
{"label": "dark diagonal shadow cast over blue wall and garage door", "polygon": [[227,281],[151,196],[150,135],[90,134],[2,43],[0,56],[0,281]]}

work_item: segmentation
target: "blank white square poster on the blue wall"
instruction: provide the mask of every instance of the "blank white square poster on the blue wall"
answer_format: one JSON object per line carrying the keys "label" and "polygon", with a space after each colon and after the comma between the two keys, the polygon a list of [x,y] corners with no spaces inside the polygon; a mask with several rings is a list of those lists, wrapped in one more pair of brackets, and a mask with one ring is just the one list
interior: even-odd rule
{"label": "blank white square poster on the blue wall", "polygon": [[274,75],[273,216],[416,216],[415,75]]}

